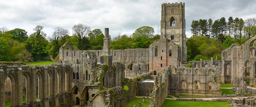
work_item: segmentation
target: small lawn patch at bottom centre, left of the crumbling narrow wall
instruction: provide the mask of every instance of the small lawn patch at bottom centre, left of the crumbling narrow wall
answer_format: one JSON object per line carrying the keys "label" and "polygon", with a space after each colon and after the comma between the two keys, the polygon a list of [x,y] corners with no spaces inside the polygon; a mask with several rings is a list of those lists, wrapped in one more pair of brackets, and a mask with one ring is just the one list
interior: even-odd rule
{"label": "small lawn patch at bottom centre, left of the crumbling narrow wall", "polygon": [[136,105],[136,107],[138,107],[138,105],[139,105],[138,102],[141,102],[140,103],[141,107],[149,107],[151,99],[145,98],[145,103],[143,103],[142,100],[143,100],[143,98],[135,98],[132,101],[130,101],[129,103],[127,103],[126,105],[124,105],[124,107],[133,107],[133,105]]}

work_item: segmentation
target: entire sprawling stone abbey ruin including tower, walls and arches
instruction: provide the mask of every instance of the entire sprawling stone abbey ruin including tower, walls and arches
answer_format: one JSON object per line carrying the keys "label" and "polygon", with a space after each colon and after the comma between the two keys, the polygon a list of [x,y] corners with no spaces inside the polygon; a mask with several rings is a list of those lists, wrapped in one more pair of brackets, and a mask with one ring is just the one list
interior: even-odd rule
{"label": "entire sprawling stone abbey ruin including tower, walls and arches", "polygon": [[102,50],[66,42],[53,65],[1,63],[0,107],[7,100],[12,107],[122,107],[136,96],[160,107],[168,94],[220,96],[221,83],[256,84],[256,37],[223,50],[222,60],[187,62],[185,4],[164,3],[161,13],[161,37],[148,49],[110,50],[105,28]]}

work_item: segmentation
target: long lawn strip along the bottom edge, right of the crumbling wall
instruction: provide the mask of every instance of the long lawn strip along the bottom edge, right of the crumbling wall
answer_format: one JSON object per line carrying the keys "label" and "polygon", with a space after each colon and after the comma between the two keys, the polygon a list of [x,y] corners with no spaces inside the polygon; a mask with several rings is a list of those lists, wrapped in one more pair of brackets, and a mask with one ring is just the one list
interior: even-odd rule
{"label": "long lawn strip along the bottom edge, right of the crumbling wall", "polygon": [[231,106],[228,104],[228,102],[176,101],[176,100],[166,99],[161,107],[231,107]]}

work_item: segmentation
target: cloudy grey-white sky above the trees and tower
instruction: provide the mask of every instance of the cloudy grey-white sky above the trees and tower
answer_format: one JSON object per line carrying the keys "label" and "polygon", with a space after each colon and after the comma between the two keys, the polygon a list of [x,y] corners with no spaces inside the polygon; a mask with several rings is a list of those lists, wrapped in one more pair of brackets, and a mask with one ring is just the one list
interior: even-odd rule
{"label": "cloudy grey-white sky above the trees and tower", "polygon": [[192,20],[256,18],[256,0],[3,0],[0,27],[25,29],[30,35],[36,25],[41,25],[51,36],[60,26],[72,35],[72,26],[82,23],[103,33],[108,27],[115,37],[151,26],[160,34],[161,4],[175,2],[185,2],[187,37],[191,37]]}

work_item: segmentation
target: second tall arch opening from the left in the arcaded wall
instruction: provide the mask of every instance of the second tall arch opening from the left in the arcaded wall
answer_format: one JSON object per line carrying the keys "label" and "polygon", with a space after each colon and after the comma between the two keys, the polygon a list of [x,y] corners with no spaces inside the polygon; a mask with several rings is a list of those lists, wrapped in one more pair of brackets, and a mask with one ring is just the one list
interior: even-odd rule
{"label": "second tall arch opening from the left in the arcaded wall", "polygon": [[23,75],[26,78],[26,102],[32,102],[32,86],[30,85],[32,83],[30,83],[30,76],[27,72],[24,72]]}

